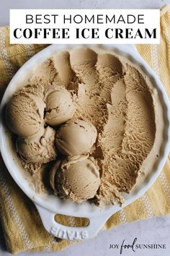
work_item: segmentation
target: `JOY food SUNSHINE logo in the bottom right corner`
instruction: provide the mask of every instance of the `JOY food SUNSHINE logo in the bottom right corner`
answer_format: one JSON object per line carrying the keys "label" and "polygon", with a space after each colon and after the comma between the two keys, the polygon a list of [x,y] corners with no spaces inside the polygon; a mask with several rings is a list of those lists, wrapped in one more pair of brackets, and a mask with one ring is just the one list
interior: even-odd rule
{"label": "JOY food SUNSHINE logo in the bottom right corner", "polygon": [[127,249],[134,253],[138,249],[166,249],[166,244],[139,244],[137,241],[138,239],[136,237],[131,243],[128,243],[123,239],[120,244],[109,244],[109,249],[119,249],[120,255],[122,255],[123,252],[127,253]]}

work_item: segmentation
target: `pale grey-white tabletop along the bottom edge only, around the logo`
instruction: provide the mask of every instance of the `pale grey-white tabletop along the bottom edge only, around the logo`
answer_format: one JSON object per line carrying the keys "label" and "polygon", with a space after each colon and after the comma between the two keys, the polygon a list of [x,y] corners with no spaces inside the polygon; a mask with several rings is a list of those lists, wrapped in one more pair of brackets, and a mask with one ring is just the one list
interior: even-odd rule
{"label": "pale grey-white tabletop along the bottom edge only, around the logo", "polygon": [[[74,244],[63,252],[24,252],[19,256],[118,256],[120,249],[109,249],[110,244],[132,244],[137,237],[137,244],[166,244],[166,249],[123,249],[125,256],[169,256],[170,255],[170,217],[158,217],[145,221],[135,221],[117,226],[110,231],[102,231],[97,237]],[[0,236],[0,255],[9,256]]]}

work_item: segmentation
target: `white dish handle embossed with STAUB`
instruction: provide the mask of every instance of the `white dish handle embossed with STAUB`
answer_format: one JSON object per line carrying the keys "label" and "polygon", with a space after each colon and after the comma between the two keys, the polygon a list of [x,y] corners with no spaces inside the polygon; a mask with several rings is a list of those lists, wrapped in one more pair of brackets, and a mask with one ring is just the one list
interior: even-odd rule
{"label": "white dish handle embossed with STAUB", "polygon": [[107,216],[103,214],[101,216],[94,216],[92,218],[89,218],[88,226],[63,226],[62,224],[55,221],[56,213],[42,208],[42,206],[37,205],[37,203],[35,203],[35,206],[40,213],[40,218],[46,231],[48,231],[48,233],[52,234],[55,237],[66,240],[84,240],[96,236],[99,230],[102,229],[102,226],[104,226],[107,218],[109,218],[108,214]]}

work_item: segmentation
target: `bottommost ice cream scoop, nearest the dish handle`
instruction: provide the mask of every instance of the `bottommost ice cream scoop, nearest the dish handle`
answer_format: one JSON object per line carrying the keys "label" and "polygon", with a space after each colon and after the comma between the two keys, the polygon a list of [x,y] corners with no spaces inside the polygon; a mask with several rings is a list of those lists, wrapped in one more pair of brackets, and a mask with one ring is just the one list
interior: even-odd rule
{"label": "bottommost ice cream scoop, nearest the dish handle", "polygon": [[61,198],[83,202],[93,198],[99,189],[99,166],[88,155],[57,161],[50,171],[50,185]]}

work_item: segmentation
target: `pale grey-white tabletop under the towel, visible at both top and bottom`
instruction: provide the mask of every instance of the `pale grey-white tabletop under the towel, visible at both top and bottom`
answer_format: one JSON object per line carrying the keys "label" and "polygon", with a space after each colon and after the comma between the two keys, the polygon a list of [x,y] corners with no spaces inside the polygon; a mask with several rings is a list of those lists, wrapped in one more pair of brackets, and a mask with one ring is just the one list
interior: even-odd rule
{"label": "pale grey-white tabletop under the towel, visible at both top and bottom", "polygon": [[[64,9],[64,8],[94,8],[94,9],[158,9],[164,4],[170,4],[170,0],[0,0],[0,25],[9,24],[9,9]],[[170,202],[169,202],[170,207]],[[75,244],[63,252],[24,252],[19,256],[117,256],[120,249],[109,249],[110,244],[122,244],[125,239],[126,244],[133,242],[137,237],[137,244],[166,244],[166,249],[124,249],[122,255],[131,256],[169,256],[170,255],[170,216],[151,218],[146,221],[135,221],[117,226],[110,231],[100,232],[97,237],[87,240],[81,244]],[[6,252],[4,238],[0,229],[0,256],[9,256]]]}

